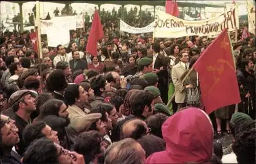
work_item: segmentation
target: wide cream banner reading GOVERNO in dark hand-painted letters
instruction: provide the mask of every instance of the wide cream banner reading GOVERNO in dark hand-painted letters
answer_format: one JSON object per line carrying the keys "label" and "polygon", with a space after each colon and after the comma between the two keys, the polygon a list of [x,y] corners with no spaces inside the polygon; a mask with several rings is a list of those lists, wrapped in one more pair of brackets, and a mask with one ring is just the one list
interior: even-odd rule
{"label": "wide cream banner reading GOVERNO in dark hand-painted letters", "polygon": [[158,11],[155,16],[155,34],[156,38],[178,38],[183,36],[209,36],[217,35],[225,28],[228,31],[239,29],[238,14],[234,12],[235,8],[227,11],[217,17],[205,20],[183,20],[165,12]]}

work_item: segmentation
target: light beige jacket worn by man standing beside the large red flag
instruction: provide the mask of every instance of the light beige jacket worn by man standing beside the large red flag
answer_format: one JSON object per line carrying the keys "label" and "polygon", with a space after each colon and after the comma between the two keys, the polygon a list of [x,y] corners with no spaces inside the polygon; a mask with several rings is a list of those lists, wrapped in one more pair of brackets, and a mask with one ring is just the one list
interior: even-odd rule
{"label": "light beige jacket worn by man standing beside the large red flag", "polygon": [[172,68],[172,80],[175,86],[175,90],[177,90],[175,94],[175,102],[176,103],[185,103],[186,98],[186,89],[181,83],[181,76],[186,72],[186,69],[179,62],[174,65]]}

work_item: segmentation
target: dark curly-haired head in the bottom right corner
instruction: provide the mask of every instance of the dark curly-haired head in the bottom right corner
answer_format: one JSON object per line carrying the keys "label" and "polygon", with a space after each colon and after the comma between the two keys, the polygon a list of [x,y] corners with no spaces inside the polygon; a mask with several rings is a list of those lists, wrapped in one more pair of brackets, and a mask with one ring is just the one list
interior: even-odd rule
{"label": "dark curly-haired head in the bottom right corner", "polygon": [[[233,152],[237,156],[238,163],[254,163],[255,162],[255,121],[247,121],[241,124],[237,130],[239,131],[233,144]],[[237,131],[236,130],[236,131]]]}

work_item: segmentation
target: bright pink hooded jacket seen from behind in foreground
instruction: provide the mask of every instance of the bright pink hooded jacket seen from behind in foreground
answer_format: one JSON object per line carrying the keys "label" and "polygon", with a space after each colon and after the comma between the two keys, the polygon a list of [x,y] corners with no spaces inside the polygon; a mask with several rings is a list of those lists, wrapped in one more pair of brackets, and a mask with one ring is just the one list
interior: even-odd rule
{"label": "bright pink hooded jacket seen from behind in foreground", "polygon": [[205,162],[213,153],[214,129],[208,115],[194,107],[170,116],[162,125],[166,150],[148,156],[145,163]]}

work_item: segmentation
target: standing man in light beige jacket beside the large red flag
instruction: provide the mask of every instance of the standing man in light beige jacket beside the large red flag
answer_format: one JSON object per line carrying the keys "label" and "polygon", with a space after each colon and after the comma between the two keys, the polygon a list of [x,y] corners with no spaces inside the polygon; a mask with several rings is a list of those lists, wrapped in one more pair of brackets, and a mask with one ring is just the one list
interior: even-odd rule
{"label": "standing man in light beige jacket beside the large red flag", "polygon": [[175,102],[178,104],[178,110],[186,106],[186,89],[190,87],[189,85],[184,86],[181,81],[181,76],[185,73],[186,69],[188,69],[188,53],[181,52],[179,54],[180,62],[173,66],[172,69],[172,80],[175,86],[175,90],[177,90],[175,94]]}

